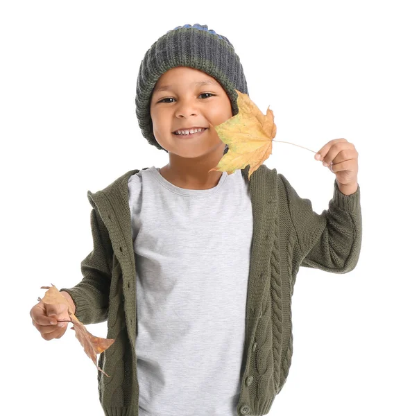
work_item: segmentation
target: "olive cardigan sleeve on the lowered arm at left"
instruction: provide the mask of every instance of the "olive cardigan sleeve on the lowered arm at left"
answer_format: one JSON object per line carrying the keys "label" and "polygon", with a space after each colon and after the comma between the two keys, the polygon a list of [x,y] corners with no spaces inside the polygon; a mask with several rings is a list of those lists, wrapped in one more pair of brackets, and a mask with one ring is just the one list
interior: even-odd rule
{"label": "olive cardigan sleeve on the lowered arm at left", "polygon": [[76,317],[83,324],[96,324],[108,318],[112,245],[101,216],[96,209],[90,213],[93,250],[80,263],[83,279],[73,288],[61,288],[69,293],[76,305]]}

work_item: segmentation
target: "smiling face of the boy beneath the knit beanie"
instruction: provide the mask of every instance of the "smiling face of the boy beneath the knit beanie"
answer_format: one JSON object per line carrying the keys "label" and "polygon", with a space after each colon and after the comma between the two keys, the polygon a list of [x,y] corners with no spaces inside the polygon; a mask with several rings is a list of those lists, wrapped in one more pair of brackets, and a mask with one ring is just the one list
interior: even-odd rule
{"label": "smiling face of the boy beneath the knit beanie", "polygon": [[[202,82],[207,84],[202,85]],[[198,84],[200,83],[200,84]],[[160,88],[165,89],[159,91]],[[169,153],[196,157],[225,144],[209,123],[219,125],[232,117],[230,98],[221,85],[203,71],[175,67],[157,80],[151,98],[153,134]],[[178,136],[175,130],[208,128],[195,137]]]}

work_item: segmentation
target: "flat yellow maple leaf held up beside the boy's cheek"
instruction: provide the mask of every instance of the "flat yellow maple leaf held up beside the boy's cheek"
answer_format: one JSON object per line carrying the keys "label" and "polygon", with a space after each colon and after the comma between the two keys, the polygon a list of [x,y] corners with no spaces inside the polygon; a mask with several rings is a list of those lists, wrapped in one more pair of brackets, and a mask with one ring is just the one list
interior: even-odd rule
{"label": "flat yellow maple leaf held up beside the boy's cheek", "polygon": [[227,172],[229,175],[237,169],[250,165],[248,179],[272,153],[272,141],[276,135],[273,111],[268,105],[267,114],[263,114],[248,94],[237,89],[239,112],[224,123],[213,126],[221,141],[228,144],[228,152],[220,159],[216,167],[209,170]]}

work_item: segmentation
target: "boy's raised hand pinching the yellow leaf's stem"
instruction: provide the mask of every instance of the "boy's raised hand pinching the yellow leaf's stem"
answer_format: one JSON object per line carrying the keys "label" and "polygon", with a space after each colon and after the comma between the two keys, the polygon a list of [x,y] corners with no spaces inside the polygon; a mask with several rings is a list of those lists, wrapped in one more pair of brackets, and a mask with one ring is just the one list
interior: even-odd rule
{"label": "boy's raised hand pinching the yellow leaf's stem", "polygon": [[315,159],[321,160],[324,166],[335,173],[336,182],[346,187],[354,185],[357,188],[359,153],[354,144],[349,143],[346,139],[330,140],[318,150]]}

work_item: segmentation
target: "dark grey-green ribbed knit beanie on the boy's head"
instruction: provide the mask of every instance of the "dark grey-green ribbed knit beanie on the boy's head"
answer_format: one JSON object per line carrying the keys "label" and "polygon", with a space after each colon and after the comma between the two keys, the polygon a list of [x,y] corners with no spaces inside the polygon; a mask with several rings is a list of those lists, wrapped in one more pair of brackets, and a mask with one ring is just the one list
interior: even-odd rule
{"label": "dark grey-green ribbed knit beanie on the boy's head", "polygon": [[[237,92],[248,93],[243,68],[234,46],[227,37],[208,30],[207,25],[177,26],[160,37],[145,53],[139,67],[136,114],[142,135],[148,143],[168,151],[153,135],[151,97],[157,80],[174,67],[190,67],[204,71],[221,84],[231,102],[232,115],[238,114]],[[225,146],[227,153],[228,146]]]}

